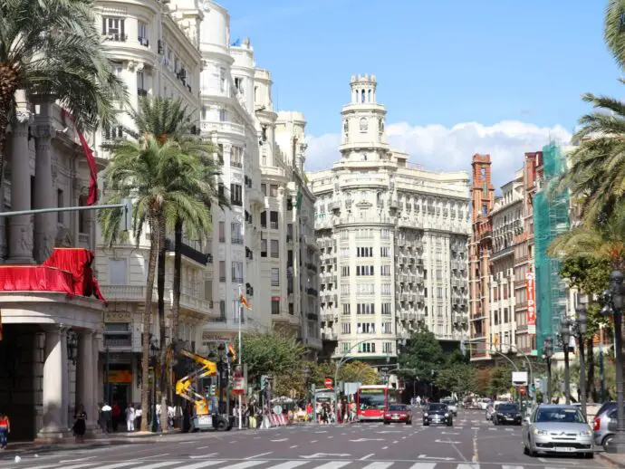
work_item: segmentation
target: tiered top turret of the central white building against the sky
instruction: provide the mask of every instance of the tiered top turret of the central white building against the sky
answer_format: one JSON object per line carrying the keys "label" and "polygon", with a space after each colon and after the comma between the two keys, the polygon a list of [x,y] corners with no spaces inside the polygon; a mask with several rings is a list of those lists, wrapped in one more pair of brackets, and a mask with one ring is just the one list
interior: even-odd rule
{"label": "tiered top turret of the central white building against the sky", "polygon": [[341,160],[387,159],[389,145],[384,131],[386,108],[378,104],[375,75],[351,76],[351,102],[341,110]]}

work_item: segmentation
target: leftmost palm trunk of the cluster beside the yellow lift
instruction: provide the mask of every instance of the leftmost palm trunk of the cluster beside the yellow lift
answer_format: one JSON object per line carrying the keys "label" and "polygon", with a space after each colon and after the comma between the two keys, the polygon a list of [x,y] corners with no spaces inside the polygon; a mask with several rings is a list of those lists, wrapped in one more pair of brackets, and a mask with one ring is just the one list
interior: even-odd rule
{"label": "leftmost palm trunk of the cluster beside the yellow lift", "polygon": [[[152,319],[152,292],[154,290],[154,277],[156,273],[157,254],[159,253],[159,235],[155,230],[153,220],[149,220],[149,263],[148,280],[146,282],[146,298],[143,308],[143,338],[141,343],[141,431],[148,430],[149,420],[149,324]],[[156,374],[154,376],[156,379]]]}

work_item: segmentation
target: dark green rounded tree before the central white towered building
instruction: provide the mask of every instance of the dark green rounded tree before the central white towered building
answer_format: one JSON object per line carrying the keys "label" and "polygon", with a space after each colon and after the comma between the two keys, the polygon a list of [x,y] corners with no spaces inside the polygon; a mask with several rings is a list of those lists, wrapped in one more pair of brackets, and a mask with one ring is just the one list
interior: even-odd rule
{"label": "dark green rounded tree before the central white towered building", "polygon": [[440,343],[427,329],[413,332],[399,355],[400,375],[421,381],[430,380],[432,371],[439,372],[445,363],[446,357]]}

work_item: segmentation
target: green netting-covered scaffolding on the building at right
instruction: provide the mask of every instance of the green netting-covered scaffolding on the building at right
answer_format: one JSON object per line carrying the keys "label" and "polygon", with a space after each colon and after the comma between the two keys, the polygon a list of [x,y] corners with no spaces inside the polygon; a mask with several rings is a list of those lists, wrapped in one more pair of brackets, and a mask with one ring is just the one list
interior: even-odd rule
{"label": "green netting-covered scaffolding on the building at right", "polygon": [[[567,289],[560,278],[560,262],[547,255],[553,239],[570,229],[567,191],[550,194],[549,187],[565,170],[562,148],[555,143],[543,147],[543,186],[534,196],[534,254],[536,295],[536,349],[543,354],[543,340],[560,332],[566,315]],[[554,346],[558,340],[553,341]]]}

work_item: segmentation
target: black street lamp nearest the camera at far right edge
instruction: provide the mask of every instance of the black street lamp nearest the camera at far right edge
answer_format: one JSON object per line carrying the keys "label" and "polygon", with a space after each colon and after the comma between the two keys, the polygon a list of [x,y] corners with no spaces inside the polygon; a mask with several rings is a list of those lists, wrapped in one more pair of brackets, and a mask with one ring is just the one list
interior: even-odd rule
{"label": "black street lamp nearest the camera at far right edge", "polygon": [[610,274],[610,290],[603,292],[605,306],[602,314],[614,316],[614,351],[616,353],[616,410],[618,416],[617,430],[607,450],[610,453],[625,453],[625,409],[623,406],[623,336],[620,330],[623,318],[623,302],[625,302],[625,285],[623,273],[614,271]]}

